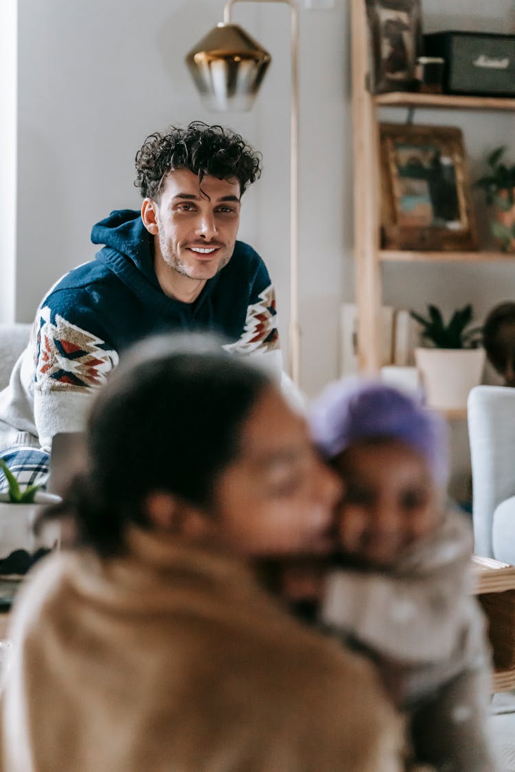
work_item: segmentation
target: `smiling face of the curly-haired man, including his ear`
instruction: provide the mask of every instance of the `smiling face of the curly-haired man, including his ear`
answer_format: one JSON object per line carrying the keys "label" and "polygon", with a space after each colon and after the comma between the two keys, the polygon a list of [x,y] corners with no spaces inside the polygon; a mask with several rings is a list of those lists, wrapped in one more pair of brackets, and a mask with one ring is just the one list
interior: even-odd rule
{"label": "smiling face of the curly-haired man, including his ear", "polygon": [[[159,202],[150,201],[151,227],[157,236],[156,259],[181,276],[212,279],[231,259],[239,226],[237,180],[206,176],[202,183],[188,169],[171,171]],[[147,212],[148,214],[148,212]]]}

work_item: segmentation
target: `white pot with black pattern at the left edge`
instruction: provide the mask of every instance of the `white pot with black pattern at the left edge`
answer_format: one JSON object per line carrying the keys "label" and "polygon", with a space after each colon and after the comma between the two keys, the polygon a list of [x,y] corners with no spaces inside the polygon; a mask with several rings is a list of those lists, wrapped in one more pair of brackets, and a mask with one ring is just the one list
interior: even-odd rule
{"label": "white pot with black pattern at the left edge", "polygon": [[34,523],[44,507],[60,500],[52,493],[38,491],[34,503],[13,504],[7,493],[0,493],[0,604],[10,604],[14,598],[27,570],[22,568],[24,562],[30,563],[40,549],[59,546],[59,523],[49,523],[37,536]]}

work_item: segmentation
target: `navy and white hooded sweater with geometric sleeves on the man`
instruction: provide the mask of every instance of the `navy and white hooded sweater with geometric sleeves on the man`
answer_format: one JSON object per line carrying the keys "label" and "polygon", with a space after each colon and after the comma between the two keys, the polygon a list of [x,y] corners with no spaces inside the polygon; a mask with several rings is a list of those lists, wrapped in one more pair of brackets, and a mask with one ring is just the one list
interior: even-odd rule
{"label": "navy and white hooded sweater with geometric sleeves on the man", "polygon": [[260,354],[280,377],[273,286],[251,247],[208,279],[194,303],[164,294],[154,273],[154,238],[139,212],[112,212],[93,226],[96,259],[63,276],[42,300],[34,335],[0,394],[0,449],[37,445],[57,432],[83,431],[95,388],[137,340],[173,330],[214,330],[224,348]]}

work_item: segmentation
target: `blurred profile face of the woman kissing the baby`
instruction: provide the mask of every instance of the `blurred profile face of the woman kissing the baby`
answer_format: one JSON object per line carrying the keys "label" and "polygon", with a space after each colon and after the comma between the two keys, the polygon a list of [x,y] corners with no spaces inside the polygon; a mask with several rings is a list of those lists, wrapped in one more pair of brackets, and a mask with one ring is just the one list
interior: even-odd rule
{"label": "blurred profile face of the woman kissing the baby", "polygon": [[242,426],[241,452],[215,486],[222,541],[246,557],[327,554],[341,484],[313,451],[307,426],[275,388]]}

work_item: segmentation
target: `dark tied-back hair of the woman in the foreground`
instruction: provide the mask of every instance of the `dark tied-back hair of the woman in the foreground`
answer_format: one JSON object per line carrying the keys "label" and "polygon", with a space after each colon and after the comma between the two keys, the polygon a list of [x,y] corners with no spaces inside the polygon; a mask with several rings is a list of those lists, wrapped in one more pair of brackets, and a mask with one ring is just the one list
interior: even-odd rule
{"label": "dark tied-back hair of the woman in the foreground", "polygon": [[239,455],[242,423],[269,384],[218,340],[139,344],[95,398],[86,471],[44,519],[71,514],[77,541],[110,555],[124,550],[130,523],[148,526],[150,493],[172,493],[208,512],[219,475]]}

